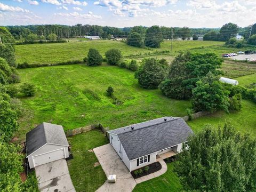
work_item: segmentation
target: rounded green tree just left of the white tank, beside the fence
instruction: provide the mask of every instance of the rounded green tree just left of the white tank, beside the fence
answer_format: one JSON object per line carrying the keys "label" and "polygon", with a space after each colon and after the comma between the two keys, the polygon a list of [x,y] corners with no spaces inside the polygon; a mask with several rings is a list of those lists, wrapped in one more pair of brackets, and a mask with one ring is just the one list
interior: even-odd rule
{"label": "rounded green tree just left of the white tank, beside the fence", "polygon": [[228,112],[228,92],[211,72],[196,82],[196,87],[192,93],[192,106],[195,111],[210,111],[213,113],[221,109]]}

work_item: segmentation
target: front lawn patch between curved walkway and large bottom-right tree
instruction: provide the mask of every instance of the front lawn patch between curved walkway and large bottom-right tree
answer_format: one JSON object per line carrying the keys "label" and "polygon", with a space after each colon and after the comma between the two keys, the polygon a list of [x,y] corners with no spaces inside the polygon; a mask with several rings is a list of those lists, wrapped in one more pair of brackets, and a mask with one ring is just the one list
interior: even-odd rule
{"label": "front lawn patch between curved walkway and large bottom-right tree", "polygon": [[180,192],[181,184],[177,174],[173,172],[175,163],[167,163],[167,171],[160,177],[150,179],[146,182],[139,183],[133,189],[133,192],[149,192],[149,191],[172,191]]}

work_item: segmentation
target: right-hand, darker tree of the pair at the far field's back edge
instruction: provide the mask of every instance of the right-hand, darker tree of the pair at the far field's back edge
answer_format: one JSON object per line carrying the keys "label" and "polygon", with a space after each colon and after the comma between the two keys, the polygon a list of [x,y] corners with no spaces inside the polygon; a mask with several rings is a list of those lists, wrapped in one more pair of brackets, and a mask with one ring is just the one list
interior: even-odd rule
{"label": "right-hand, darker tree of the pair at the far field's back edge", "polygon": [[158,26],[149,27],[145,35],[145,45],[148,47],[160,47],[163,42],[162,31]]}

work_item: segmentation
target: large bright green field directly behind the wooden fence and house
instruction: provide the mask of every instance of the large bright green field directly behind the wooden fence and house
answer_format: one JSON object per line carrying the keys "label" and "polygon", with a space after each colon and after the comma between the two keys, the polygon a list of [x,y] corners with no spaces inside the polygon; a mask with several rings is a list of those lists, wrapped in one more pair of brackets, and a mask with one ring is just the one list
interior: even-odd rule
{"label": "large bright green field directly behind the wooden fence and house", "polygon": [[[185,116],[190,101],[173,100],[160,90],[142,89],[134,73],[116,66],[69,65],[18,70],[21,83],[36,85],[36,95],[21,98],[26,115],[15,134],[20,140],[42,122],[63,125],[65,130],[93,123],[110,129],[162,116]],[[108,86],[123,102],[114,105]]]}

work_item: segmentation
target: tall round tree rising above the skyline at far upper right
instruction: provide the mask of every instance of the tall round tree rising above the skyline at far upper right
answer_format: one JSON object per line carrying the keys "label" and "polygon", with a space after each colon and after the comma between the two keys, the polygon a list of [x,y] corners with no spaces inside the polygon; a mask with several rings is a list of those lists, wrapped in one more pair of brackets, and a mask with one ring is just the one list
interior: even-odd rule
{"label": "tall round tree rising above the skyline at far upper right", "polygon": [[231,37],[235,37],[238,33],[238,26],[234,23],[226,23],[220,28],[221,40],[228,41]]}

